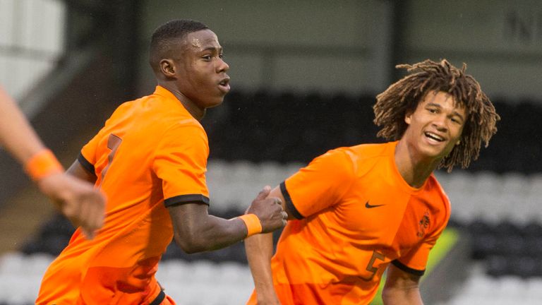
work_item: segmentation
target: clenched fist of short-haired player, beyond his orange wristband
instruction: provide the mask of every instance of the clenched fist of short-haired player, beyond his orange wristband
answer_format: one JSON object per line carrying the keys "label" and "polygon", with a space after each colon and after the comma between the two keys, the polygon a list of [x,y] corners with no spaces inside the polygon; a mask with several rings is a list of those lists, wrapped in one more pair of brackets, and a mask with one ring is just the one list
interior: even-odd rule
{"label": "clenched fist of short-haired player, beyond his orange wristband", "polygon": [[252,201],[246,214],[255,214],[262,224],[262,233],[273,232],[286,225],[288,214],[282,209],[282,201],[276,197],[267,197],[271,191],[265,186]]}

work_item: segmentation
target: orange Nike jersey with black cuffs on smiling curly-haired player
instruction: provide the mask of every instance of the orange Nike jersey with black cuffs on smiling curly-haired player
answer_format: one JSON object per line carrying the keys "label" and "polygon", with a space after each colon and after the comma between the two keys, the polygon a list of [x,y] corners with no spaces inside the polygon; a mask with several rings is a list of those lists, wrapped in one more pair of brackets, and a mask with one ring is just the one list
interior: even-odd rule
{"label": "orange Nike jersey with black cuffs on smiling curly-haired player", "polygon": [[368,304],[390,263],[423,275],[450,202],[433,175],[420,189],[406,184],[396,145],[331,150],[280,185],[298,218],[271,261],[282,305]]}

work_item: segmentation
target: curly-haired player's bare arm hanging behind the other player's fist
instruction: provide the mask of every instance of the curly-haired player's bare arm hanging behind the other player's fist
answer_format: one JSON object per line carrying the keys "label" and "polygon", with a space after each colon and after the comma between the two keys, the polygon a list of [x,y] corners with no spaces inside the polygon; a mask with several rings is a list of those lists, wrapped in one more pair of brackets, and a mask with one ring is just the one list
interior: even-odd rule
{"label": "curly-haired player's bare arm hanging behind the other player's fist", "polygon": [[[294,219],[286,207],[286,201],[284,201],[284,196],[278,186],[271,191],[269,196],[279,198],[282,202],[282,208],[288,214],[288,219]],[[258,304],[280,304],[275,288],[273,287],[271,272],[271,256],[273,255],[272,233],[249,237],[245,240],[245,251],[254,280]]]}

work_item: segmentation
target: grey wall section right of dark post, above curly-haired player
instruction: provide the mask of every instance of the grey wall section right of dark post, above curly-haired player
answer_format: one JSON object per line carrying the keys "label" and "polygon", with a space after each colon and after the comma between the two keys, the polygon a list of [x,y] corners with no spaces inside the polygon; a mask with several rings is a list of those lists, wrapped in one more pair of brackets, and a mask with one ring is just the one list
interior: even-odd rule
{"label": "grey wall section right of dark post, above curly-haired player", "polygon": [[466,62],[493,97],[542,102],[542,1],[409,1],[404,60]]}

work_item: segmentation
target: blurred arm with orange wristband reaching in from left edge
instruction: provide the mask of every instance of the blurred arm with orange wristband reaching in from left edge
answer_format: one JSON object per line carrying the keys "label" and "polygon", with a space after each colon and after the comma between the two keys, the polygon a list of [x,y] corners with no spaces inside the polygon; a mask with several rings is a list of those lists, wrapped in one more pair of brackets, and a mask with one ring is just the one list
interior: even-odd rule
{"label": "blurred arm with orange wristband reaching in from left edge", "polygon": [[64,174],[16,103],[0,88],[0,143],[24,165],[40,191],[87,237],[103,225],[105,197],[92,184]]}

